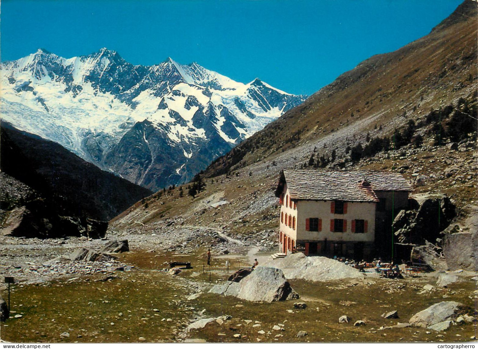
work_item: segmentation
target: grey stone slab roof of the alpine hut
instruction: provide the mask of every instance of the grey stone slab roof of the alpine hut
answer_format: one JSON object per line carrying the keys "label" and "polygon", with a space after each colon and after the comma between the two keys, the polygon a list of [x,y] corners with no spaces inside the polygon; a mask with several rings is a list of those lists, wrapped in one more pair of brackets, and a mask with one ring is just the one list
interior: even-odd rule
{"label": "grey stone slab roof of the alpine hut", "polygon": [[291,199],[372,201],[375,191],[412,191],[401,174],[379,171],[284,169]]}

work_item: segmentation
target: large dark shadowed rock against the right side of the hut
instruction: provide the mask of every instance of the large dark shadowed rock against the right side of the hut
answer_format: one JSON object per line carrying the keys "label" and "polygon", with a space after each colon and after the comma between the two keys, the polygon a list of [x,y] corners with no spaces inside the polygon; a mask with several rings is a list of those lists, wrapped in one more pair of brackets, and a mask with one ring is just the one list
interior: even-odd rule
{"label": "large dark shadowed rock against the right side of the hut", "polygon": [[412,210],[402,210],[393,221],[399,243],[423,245],[435,242],[456,216],[456,207],[446,195],[417,195]]}

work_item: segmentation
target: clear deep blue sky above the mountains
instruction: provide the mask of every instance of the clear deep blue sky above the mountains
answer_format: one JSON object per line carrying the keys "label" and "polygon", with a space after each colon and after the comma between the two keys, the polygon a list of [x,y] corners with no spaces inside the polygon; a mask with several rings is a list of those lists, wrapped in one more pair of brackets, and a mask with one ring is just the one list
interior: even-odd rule
{"label": "clear deep blue sky above the mountains", "polygon": [[461,0],[2,0],[0,57],[168,56],[247,83],[312,94],[377,53],[426,34]]}

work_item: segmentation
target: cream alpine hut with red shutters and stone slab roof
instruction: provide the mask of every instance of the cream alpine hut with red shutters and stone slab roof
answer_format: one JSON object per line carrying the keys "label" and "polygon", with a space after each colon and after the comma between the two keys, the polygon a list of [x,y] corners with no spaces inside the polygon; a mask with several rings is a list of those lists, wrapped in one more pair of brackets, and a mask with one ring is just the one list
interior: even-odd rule
{"label": "cream alpine hut with red shutters and stone slab roof", "polygon": [[391,223],[408,208],[412,186],[402,175],[378,171],[284,169],[280,252],[369,258],[391,251]]}

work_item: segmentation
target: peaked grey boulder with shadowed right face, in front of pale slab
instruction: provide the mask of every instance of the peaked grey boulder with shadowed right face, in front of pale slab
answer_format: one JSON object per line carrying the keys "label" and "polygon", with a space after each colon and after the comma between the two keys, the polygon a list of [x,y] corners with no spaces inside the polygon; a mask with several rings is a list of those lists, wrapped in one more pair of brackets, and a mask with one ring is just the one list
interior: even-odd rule
{"label": "peaked grey boulder with shadowed right face, in front of pale slab", "polygon": [[285,279],[282,270],[258,266],[239,283],[228,281],[226,285],[217,285],[209,292],[241,299],[257,301],[280,301],[299,298]]}

